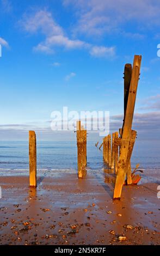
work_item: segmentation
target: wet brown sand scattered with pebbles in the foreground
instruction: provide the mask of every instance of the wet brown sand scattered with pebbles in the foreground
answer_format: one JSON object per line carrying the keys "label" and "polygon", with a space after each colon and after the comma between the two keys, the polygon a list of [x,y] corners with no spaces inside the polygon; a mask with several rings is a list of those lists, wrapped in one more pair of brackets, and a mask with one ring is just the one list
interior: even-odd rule
{"label": "wet brown sand scattered with pebbles in the foreground", "polygon": [[160,245],[159,170],[150,173],[120,201],[105,170],[42,176],[36,190],[27,176],[2,176],[0,245]]}

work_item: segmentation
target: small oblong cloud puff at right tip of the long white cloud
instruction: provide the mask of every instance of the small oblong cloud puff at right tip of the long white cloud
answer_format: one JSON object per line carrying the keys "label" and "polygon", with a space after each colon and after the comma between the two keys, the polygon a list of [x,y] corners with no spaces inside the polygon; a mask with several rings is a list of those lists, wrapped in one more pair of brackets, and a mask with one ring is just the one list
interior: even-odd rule
{"label": "small oblong cloud puff at right tip of the long white cloud", "polygon": [[104,47],[104,46],[93,46],[91,47],[90,54],[94,57],[110,57],[114,56],[114,47]]}

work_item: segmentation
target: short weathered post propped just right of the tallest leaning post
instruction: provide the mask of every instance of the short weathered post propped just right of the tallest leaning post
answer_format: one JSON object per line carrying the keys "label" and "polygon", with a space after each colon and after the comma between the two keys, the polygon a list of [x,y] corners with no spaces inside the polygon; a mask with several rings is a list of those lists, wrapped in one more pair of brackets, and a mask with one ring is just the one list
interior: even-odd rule
{"label": "short weathered post propped just right of the tallest leaning post", "polygon": [[127,185],[132,184],[132,176],[131,176],[131,155],[134,147],[134,142],[136,141],[137,132],[132,130],[131,131],[131,137],[130,142],[128,145],[128,153],[127,153],[127,159],[126,159],[126,173],[127,173]]}

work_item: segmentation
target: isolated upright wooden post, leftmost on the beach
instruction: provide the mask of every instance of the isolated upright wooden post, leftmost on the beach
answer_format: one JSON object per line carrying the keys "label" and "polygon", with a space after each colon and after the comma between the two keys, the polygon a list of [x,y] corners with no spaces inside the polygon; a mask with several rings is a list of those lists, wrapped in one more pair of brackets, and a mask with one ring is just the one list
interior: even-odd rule
{"label": "isolated upright wooden post, leftmost on the beach", "polygon": [[36,135],[29,131],[29,186],[36,187]]}

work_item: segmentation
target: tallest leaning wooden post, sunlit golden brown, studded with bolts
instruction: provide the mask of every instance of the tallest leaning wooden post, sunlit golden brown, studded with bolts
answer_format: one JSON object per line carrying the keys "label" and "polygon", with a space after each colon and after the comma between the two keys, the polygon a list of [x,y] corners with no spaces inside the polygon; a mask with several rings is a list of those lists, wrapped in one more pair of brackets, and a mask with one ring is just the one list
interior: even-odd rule
{"label": "tallest leaning wooden post, sunlit golden brown, studded with bolts", "polygon": [[121,155],[119,157],[119,162],[118,162],[118,173],[116,175],[116,182],[115,182],[114,196],[113,196],[114,199],[115,198],[120,199],[122,186],[124,184],[125,176],[126,176],[125,165],[126,165],[128,146],[129,146],[129,141],[131,136],[131,127],[132,127],[134,106],[136,102],[140,64],[141,64],[141,56],[139,55],[134,56],[130,90],[128,94],[128,101],[127,101],[127,107],[126,107],[126,114],[125,114],[124,124],[122,127]]}

